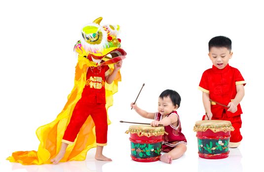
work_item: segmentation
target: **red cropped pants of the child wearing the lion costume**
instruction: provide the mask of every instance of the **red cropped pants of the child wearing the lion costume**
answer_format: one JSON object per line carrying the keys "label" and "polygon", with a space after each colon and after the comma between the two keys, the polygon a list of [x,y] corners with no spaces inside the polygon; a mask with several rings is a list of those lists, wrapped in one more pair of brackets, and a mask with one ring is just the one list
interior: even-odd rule
{"label": "red cropped pants of the child wearing the lion costume", "polygon": [[91,115],[95,124],[96,143],[106,144],[108,130],[106,105],[97,103],[77,102],[63,140],[74,142],[81,126],[89,115]]}

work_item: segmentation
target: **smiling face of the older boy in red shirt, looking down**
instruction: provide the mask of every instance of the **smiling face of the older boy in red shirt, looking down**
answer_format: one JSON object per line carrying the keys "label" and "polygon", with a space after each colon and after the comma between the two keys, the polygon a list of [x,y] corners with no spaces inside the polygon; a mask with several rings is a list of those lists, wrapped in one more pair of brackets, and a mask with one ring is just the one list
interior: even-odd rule
{"label": "smiling face of the older boy in red shirt, looking down", "polygon": [[212,47],[208,54],[213,65],[218,69],[224,69],[232,55],[233,52],[229,52],[226,47]]}

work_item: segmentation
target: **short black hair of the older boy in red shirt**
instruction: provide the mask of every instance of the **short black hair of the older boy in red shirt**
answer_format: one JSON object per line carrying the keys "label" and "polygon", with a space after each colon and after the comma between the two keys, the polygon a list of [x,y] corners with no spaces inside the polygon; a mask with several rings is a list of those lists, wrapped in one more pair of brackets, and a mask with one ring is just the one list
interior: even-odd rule
{"label": "short black hair of the older boy in red shirt", "polygon": [[232,49],[232,41],[231,39],[227,38],[226,36],[216,36],[213,37],[209,42],[208,42],[208,48],[209,52],[212,47],[226,47],[229,51]]}

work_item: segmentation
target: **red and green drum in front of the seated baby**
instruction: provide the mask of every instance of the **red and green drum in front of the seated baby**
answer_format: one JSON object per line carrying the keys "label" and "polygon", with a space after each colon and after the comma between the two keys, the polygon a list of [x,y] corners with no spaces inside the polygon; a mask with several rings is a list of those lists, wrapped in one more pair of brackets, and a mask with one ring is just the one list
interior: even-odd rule
{"label": "red and green drum in front of the seated baby", "polygon": [[126,131],[130,133],[131,158],[138,162],[154,162],[160,158],[164,127],[150,125],[132,125]]}

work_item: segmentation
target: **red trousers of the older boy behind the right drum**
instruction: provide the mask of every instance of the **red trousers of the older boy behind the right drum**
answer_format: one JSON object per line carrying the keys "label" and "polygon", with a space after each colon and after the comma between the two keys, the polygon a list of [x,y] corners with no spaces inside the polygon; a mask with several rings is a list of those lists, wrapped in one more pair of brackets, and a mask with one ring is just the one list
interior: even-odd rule
{"label": "red trousers of the older boy behind the right drum", "polygon": [[[218,114],[217,116],[221,116],[221,117],[215,118],[213,114],[212,120],[228,120],[232,123],[232,126],[234,127],[235,130],[230,132],[230,135],[231,135],[230,142],[233,142],[233,143],[240,142],[242,140],[242,136],[240,133],[240,128],[242,125],[241,116],[237,115],[237,116],[227,117],[225,110],[222,112],[222,115]],[[204,120],[204,118],[205,118],[205,115],[203,116],[202,120]]]}

